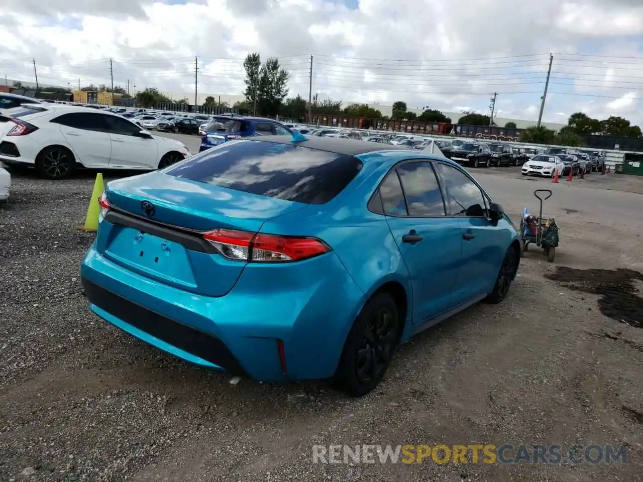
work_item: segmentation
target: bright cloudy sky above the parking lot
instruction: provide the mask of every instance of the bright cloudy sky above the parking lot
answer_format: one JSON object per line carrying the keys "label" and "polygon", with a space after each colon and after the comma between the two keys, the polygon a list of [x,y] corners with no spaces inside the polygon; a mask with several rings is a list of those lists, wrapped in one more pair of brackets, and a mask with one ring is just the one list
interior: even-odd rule
{"label": "bright cloudy sky above the parking lot", "polygon": [[[641,0],[0,0],[8,78],[240,94],[248,52],[277,56],[291,94],[544,120],[643,125]],[[1,83],[1,81],[0,81]]]}

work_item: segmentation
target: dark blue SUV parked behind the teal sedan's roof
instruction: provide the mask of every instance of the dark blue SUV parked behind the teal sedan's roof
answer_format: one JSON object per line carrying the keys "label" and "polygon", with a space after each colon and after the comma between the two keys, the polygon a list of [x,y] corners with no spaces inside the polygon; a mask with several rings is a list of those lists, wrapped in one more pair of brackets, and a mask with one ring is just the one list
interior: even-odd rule
{"label": "dark blue SUV parked behind the teal sedan's roof", "polygon": [[272,119],[230,114],[215,116],[201,134],[199,152],[233,139],[250,136],[289,136],[292,133],[293,131],[285,125]]}

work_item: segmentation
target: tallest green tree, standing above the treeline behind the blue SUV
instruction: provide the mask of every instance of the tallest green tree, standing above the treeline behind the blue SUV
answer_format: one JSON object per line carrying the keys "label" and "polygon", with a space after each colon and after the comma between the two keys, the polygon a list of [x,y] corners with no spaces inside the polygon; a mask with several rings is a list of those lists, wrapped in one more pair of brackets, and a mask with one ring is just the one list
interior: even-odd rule
{"label": "tallest green tree, standing above the treeline behind the blue SUV", "polygon": [[288,94],[289,75],[279,64],[279,59],[271,57],[261,64],[258,53],[249,53],[244,60],[246,69],[246,101],[256,102],[257,113],[276,116]]}

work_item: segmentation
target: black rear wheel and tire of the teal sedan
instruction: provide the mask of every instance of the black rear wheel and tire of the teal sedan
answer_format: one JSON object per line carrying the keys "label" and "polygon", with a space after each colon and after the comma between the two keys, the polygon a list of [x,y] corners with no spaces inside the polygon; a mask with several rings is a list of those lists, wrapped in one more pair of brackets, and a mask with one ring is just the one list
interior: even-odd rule
{"label": "black rear wheel and tire of the teal sedan", "polygon": [[[390,294],[381,292],[369,299],[344,343],[334,377],[337,388],[351,397],[362,397],[376,388],[390,364],[400,329],[399,311]],[[371,366],[372,358],[377,358],[377,366]]]}

